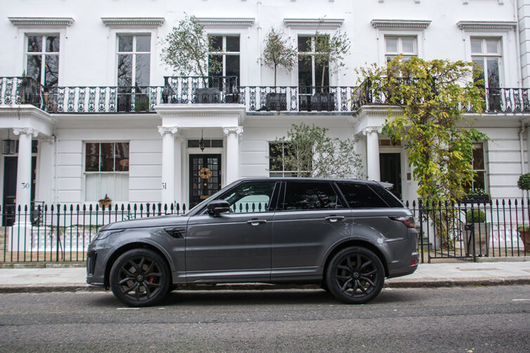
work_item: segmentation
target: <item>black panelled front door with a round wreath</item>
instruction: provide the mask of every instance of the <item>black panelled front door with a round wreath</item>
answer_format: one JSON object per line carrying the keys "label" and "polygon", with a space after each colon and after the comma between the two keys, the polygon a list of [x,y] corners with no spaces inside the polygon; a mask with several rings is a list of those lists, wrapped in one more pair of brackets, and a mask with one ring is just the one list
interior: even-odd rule
{"label": "black panelled front door with a round wreath", "polygon": [[190,208],[221,189],[221,154],[190,154]]}

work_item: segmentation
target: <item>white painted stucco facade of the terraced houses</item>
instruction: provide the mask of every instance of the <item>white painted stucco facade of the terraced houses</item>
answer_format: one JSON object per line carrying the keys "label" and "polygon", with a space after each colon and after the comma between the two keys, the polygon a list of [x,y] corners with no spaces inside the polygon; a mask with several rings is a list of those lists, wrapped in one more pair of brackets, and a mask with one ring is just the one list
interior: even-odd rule
{"label": "white painted stucco facade of the terraced houses", "polygon": [[[386,38],[415,39],[415,54],[430,60],[472,60],[472,39],[499,43],[502,88],[529,86],[530,1],[505,0],[95,0],[73,6],[50,0],[1,0],[0,77],[26,70],[28,35],[56,34],[58,86],[117,86],[117,36],[150,35],[149,86],[163,86],[172,75],[160,60],[163,39],[184,13],[195,15],[209,34],[240,38],[240,86],[272,86],[273,70],[263,65],[264,36],[281,29],[296,46],[297,36],[316,29],[348,34],[351,53],[346,68],[330,76],[330,86],[357,86],[354,69],[385,62]],[[323,19],[323,20],[322,20]],[[298,72],[278,69],[277,86],[297,86]],[[6,87],[2,88],[4,91]],[[16,199],[29,204],[22,184],[31,182],[31,140],[39,141],[34,200],[46,204],[89,203],[86,185],[87,142],[129,142],[127,199],[115,203],[189,204],[190,154],[221,154],[221,185],[269,175],[269,141],[285,135],[291,124],[316,124],[340,138],[354,138],[363,173],[380,180],[380,153],[398,153],[402,198],[413,200],[402,147],[384,146],[381,127],[386,107],[365,106],[334,112],[254,112],[248,101],[223,104],[157,104],[149,113],[43,112],[32,105],[0,101],[0,138],[20,140]],[[470,116],[470,119],[473,117]],[[486,189],[493,198],[520,198],[517,178],[529,171],[530,113],[484,114],[475,126],[489,135],[484,142]],[[187,141],[223,140],[204,152]],[[8,155],[0,156],[0,192]],[[112,197],[112,195],[109,195]],[[103,195],[97,195],[97,198]],[[2,198],[3,199],[3,198]]]}

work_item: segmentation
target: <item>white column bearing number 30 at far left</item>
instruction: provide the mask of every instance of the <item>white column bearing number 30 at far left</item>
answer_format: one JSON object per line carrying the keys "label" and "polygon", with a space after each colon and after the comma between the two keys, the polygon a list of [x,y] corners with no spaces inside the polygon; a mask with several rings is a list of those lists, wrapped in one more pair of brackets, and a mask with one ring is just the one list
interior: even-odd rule
{"label": "white column bearing number 30 at far left", "polygon": [[32,189],[32,136],[39,135],[33,128],[13,128],[13,133],[18,135],[18,162],[17,162],[17,194],[16,205],[20,206],[22,213],[24,206],[31,206]]}

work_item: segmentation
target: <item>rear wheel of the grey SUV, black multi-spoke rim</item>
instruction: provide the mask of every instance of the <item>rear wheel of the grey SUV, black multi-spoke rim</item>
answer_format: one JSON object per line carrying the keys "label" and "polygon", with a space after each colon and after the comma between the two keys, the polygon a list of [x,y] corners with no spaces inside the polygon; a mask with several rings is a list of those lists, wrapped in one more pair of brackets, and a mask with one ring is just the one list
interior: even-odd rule
{"label": "rear wheel of the grey SUV, black multi-spoke rim", "polygon": [[344,248],[333,256],[326,268],[330,293],[348,304],[373,300],[384,284],[381,260],[367,248]]}

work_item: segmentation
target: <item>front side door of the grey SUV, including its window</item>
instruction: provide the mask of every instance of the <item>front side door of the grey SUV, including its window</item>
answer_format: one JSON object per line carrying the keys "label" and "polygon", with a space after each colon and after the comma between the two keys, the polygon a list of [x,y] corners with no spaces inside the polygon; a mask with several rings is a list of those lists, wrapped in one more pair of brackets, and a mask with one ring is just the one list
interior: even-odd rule
{"label": "front side door of the grey SUV, including its window", "polygon": [[190,217],[186,235],[188,282],[269,281],[270,207],[276,181],[248,181],[221,194],[229,213]]}

